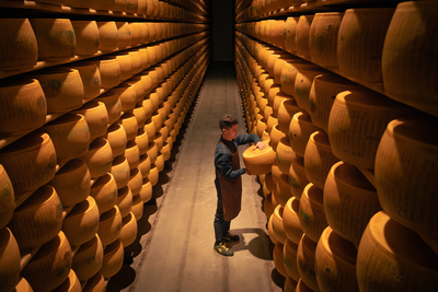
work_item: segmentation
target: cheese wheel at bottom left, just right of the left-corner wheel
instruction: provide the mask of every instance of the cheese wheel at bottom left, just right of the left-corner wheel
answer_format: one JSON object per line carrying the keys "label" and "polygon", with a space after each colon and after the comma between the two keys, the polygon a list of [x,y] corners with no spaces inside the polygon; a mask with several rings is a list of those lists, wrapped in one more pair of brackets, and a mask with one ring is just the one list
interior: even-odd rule
{"label": "cheese wheel at bottom left, just right of the left-corner wheel", "polygon": [[71,247],[60,231],[38,249],[21,275],[26,278],[35,291],[48,292],[59,287],[68,278],[70,268]]}

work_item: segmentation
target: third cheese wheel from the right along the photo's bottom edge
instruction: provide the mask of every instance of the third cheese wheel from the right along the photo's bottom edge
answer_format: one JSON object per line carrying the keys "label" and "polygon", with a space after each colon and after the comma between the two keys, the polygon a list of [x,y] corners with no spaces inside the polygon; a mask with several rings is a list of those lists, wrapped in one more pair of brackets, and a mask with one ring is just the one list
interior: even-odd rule
{"label": "third cheese wheel from the right along the photo's bottom edge", "polygon": [[307,287],[313,291],[320,291],[316,282],[316,272],[314,268],[314,259],[316,252],[316,243],[312,242],[306,233],[302,235],[297,249],[298,272]]}

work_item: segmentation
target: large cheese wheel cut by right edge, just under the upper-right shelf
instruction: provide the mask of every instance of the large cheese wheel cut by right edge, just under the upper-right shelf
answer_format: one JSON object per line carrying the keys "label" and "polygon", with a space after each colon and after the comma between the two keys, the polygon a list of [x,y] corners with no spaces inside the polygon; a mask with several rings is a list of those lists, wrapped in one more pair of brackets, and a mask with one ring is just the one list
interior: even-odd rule
{"label": "large cheese wheel cut by right edge, just under the upper-right shelf", "polygon": [[376,188],[383,210],[403,225],[438,238],[437,119],[392,120],[376,155]]}

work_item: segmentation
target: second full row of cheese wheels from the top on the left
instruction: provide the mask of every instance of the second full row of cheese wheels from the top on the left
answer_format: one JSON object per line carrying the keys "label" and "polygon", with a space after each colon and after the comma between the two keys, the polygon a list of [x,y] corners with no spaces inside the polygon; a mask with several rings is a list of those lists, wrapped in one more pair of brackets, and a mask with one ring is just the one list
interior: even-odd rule
{"label": "second full row of cheese wheels from the top on the left", "polygon": [[[128,28],[127,35],[132,35],[129,33],[128,24],[125,24]],[[117,39],[119,39],[116,23],[106,22],[103,26],[106,25],[114,26],[114,34],[112,34],[114,38],[108,38],[107,44],[113,44],[116,48]],[[193,31],[192,28],[188,31]],[[197,32],[198,30],[194,31]],[[0,82],[0,94],[4,98],[1,98],[0,102],[2,114],[0,135],[3,137],[20,135],[38,128],[46,122],[47,115],[66,113],[81,106],[82,103],[102,94],[102,89],[107,91],[120,84],[134,74],[155,66],[176,51],[197,42],[199,37],[206,34],[206,32],[195,33],[171,40],[103,55],[99,58],[87,59],[87,61],[66,63],[56,69],[47,68],[24,74],[25,79],[2,80]],[[99,39],[99,34],[96,39]],[[95,43],[95,39],[90,38],[89,40]],[[102,43],[97,42],[96,44]],[[57,46],[55,48],[56,51],[60,51],[57,54],[65,51]],[[158,68],[163,67],[165,70],[172,70],[178,62],[181,63],[181,55],[175,55]],[[122,84],[128,86],[128,83],[132,85],[135,82],[137,81],[128,80]],[[153,84],[151,81],[145,84],[147,93],[152,90]]]}

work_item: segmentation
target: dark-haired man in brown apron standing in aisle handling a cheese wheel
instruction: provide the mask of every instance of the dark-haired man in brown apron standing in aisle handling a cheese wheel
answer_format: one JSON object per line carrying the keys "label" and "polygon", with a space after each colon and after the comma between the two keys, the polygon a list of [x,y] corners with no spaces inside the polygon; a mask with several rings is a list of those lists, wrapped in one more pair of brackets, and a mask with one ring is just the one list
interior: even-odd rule
{"label": "dark-haired man in brown apron standing in aisle handling a cheese wheel", "polygon": [[254,149],[264,149],[266,145],[258,136],[239,135],[239,121],[231,115],[224,115],[219,120],[222,136],[215,152],[216,190],[218,205],[215,214],[215,237],[214,249],[223,256],[233,256],[234,253],[227,247],[227,243],[239,242],[239,235],[232,235],[230,231],[231,220],[234,219],[241,209],[242,177],[251,173],[246,168],[240,168],[239,145],[256,143]]}

